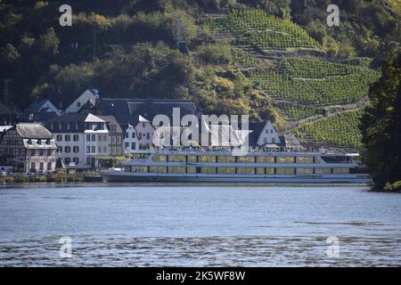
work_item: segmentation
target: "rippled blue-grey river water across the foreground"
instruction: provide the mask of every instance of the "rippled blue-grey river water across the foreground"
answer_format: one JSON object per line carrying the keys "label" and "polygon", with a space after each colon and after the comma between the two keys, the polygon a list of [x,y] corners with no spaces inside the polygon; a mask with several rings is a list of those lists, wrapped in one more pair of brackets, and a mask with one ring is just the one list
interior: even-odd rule
{"label": "rippled blue-grey river water across the foreground", "polygon": [[3,189],[0,265],[399,266],[400,202],[332,186]]}

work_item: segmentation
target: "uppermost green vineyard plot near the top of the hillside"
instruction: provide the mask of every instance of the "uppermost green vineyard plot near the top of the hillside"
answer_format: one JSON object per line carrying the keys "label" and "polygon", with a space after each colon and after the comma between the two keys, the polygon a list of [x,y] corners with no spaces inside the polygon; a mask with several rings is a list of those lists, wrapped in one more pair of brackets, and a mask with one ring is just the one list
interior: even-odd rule
{"label": "uppermost green vineyard plot near the top of the hillside", "polygon": [[209,17],[201,21],[220,37],[237,37],[235,45],[259,49],[315,48],[319,45],[307,31],[291,20],[268,15],[263,10],[233,10],[227,15]]}

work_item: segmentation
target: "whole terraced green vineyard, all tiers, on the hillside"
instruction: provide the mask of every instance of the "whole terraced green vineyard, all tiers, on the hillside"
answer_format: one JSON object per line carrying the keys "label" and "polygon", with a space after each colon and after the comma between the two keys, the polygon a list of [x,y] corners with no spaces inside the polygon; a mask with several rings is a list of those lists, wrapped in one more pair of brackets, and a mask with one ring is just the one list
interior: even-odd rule
{"label": "whole terraced green vineyard, all tiers, on the hillside", "polygon": [[[291,20],[276,18],[262,10],[210,15],[201,21],[201,26],[209,28],[217,39],[231,39],[237,68],[251,85],[276,101],[283,118],[292,121],[294,125],[289,126],[298,127],[299,134],[320,144],[360,146],[357,125],[361,110],[345,111],[329,118],[315,116],[322,114],[323,107],[356,102],[355,107],[348,108],[362,106],[363,102],[359,101],[368,94],[369,86],[380,77],[380,72],[312,55],[295,55],[292,52],[300,49],[322,51],[322,47]],[[274,57],[280,55],[278,52],[282,58]],[[297,121],[305,118],[313,121],[299,126]]]}

